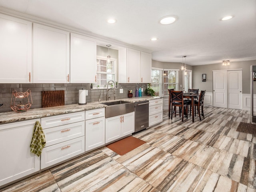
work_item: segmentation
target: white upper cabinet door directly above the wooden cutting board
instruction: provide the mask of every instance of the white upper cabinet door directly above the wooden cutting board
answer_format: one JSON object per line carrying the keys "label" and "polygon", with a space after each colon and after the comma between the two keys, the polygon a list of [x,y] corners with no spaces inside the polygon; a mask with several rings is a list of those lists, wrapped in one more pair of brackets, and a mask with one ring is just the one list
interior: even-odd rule
{"label": "white upper cabinet door directly above the wooden cutting board", "polygon": [[33,24],[33,83],[70,82],[70,33]]}

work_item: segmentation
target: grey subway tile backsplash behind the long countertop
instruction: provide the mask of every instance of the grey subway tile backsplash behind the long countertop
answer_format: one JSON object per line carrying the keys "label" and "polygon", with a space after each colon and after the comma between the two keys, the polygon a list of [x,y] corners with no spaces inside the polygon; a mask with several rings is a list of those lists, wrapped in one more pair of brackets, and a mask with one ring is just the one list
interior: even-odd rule
{"label": "grey subway tile backsplash behind the long countertop", "polygon": [[[133,97],[135,96],[136,87],[141,87],[145,90],[148,86],[147,83],[130,84],[122,83],[118,84],[116,89],[116,99],[127,98],[128,90],[132,90]],[[119,93],[120,88],[123,89],[123,93]],[[33,104],[31,108],[42,107],[42,91],[55,91],[64,90],[65,92],[65,105],[78,104],[78,90],[88,90],[88,96],[86,96],[86,102],[95,102],[99,100],[100,93],[102,93],[101,99],[106,100],[106,89],[90,89],[89,83],[34,83],[34,84],[0,84],[0,112],[12,111],[10,108],[10,102],[12,99],[12,91],[26,92],[28,89],[31,90]],[[113,89],[110,90],[110,100],[114,99]],[[142,92],[142,96],[145,96]]]}

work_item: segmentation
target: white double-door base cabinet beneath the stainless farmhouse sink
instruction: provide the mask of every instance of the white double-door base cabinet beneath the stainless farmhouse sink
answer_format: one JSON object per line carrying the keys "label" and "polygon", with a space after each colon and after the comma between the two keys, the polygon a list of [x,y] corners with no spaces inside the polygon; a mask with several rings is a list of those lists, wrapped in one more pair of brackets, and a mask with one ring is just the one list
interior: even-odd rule
{"label": "white double-door base cabinet beneath the stainless farmhouse sink", "polygon": [[106,143],[134,132],[134,112],[106,118]]}

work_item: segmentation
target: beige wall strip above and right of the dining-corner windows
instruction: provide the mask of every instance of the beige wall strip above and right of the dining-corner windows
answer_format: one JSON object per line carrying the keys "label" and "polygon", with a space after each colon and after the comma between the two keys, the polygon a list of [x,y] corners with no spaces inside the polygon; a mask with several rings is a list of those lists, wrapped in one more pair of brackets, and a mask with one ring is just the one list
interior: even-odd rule
{"label": "beige wall strip above and right of the dining-corner windows", "polygon": [[[172,62],[160,62],[152,60],[152,67],[161,68],[161,69],[179,69],[179,84],[183,85],[182,79],[182,70],[181,70],[181,63],[172,63]],[[186,65],[189,70],[192,70],[192,66]],[[180,87],[180,90],[183,90],[183,87]]]}

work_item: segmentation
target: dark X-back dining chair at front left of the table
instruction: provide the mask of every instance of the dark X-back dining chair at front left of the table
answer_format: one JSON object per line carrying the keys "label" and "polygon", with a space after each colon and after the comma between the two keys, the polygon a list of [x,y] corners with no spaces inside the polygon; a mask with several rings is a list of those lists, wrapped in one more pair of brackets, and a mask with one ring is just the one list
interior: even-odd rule
{"label": "dark X-back dining chair at front left of the table", "polygon": [[[182,121],[184,119],[184,114],[186,118],[188,118],[188,101],[183,99],[183,91],[171,91],[171,111],[172,114],[175,112],[175,116],[177,114],[176,107],[179,107],[179,115],[181,114],[182,110]],[[174,106],[174,111],[173,111]],[[185,113],[186,111],[186,113]],[[171,116],[172,119],[172,116]]]}

